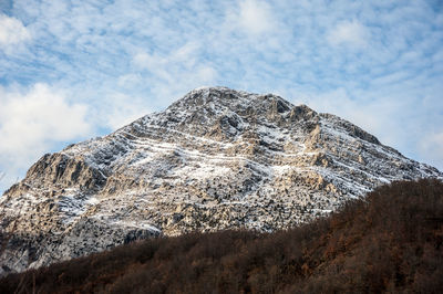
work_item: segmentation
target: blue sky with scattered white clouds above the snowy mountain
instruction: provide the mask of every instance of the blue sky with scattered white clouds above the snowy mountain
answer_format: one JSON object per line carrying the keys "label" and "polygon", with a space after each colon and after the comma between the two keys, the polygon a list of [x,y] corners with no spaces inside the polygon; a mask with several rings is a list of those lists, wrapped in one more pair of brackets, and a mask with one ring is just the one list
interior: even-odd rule
{"label": "blue sky with scattered white clouds above the snowy mountain", "polygon": [[0,193],[199,86],[339,115],[443,170],[443,1],[0,0]]}

